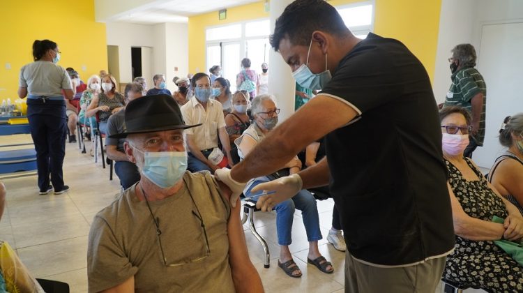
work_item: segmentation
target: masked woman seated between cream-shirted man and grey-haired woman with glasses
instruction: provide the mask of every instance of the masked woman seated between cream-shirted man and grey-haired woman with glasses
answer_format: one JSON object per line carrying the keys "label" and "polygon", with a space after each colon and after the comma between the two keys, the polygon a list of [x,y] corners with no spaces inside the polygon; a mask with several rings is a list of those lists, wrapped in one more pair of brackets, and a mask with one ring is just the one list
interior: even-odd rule
{"label": "masked woman seated between cream-shirted man and grey-haired woman with glasses", "polygon": [[246,91],[236,91],[232,96],[232,112],[225,115],[225,130],[232,143],[250,126],[247,110],[250,106]]}

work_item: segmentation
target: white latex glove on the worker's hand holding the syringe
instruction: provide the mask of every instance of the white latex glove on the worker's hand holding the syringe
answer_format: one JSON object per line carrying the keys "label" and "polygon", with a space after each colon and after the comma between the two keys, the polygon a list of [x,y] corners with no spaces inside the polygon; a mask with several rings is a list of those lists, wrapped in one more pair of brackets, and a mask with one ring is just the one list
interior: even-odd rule
{"label": "white latex glove on the worker's hand holding the syringe", "polygon": [[303,186],[301,177],[298,174],[292,174],[276,180],[261,183],[250,190],[251,193],[259,191],[275,191],[271,195],[264,195],[259,197],[256,207],[261,211],[272,211],[273,207],[284,200],[288,200],[298,193]]}

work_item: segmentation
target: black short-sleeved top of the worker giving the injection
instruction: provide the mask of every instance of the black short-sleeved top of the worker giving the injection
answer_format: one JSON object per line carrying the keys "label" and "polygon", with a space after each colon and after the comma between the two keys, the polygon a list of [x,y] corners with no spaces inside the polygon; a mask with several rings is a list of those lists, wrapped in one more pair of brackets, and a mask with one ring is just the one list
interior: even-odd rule
{"label": "black short-sleeved top of the worker giving the injection", "polygon": [[448,253],[455,241],[441,130],[420,61],[398,40],[370,33],[321,93],[360,113],[326,136],[350,253],[391,266]]}

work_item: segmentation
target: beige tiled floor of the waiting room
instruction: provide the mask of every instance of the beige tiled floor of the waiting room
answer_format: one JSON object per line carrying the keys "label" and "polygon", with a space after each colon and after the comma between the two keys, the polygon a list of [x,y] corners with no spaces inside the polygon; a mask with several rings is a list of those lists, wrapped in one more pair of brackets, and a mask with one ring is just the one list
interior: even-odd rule
{"label": "beige tiled floor of the waiting room", "polygon": [[[109,170],[95,165],[89,154],[75,144],[67,144],[64,178],[70,191],[63,195],[39,196],[36,176],[6,179],[7,208],[0,222],[0,239],[16,249],[22,262],[38,278],[61,280],[71,292],[87,292],[86,245],[89,225],[97,211],[107,206],[119,192],[119,181],[109,181]],[[326,237],[331,227],[333,202],[318,202],[321,232]],[[303,271],[299,279],[289,278],[278,268],[275,214],[256,213],[255,226],[267,240],[271,267],[264,269],[263,250],[255,237],[245,231],[250,258],[258,269],[266,292],[343,292],[344,253],[326,239],[319,241],[321,253],[335,272],[321,273],[307,264],[308,242],[301,213],[294,216],[291,253]],[[245,225],[245,229],[248,229]],[[437,292],[441,292],[438,288]],[[474,292],[467,291],[467,292]],[[479,292],[479,291],[478,291]]]}

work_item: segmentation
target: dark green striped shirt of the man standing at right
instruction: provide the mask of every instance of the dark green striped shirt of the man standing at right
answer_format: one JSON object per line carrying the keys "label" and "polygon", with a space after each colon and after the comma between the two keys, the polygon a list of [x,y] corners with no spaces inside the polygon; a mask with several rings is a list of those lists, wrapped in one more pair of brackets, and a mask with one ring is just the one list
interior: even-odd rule
{"label": "dark green striped shirt of the man standing at right", "polygon": [[476,68],[463,68],[450,77],[452,84],[445,99],[445,106],[461,106],[472,114],[471,100],[476,94],[483,93],[483,108],[480,116],[478,134],[471,137],[478,146],[483,146],[485,138],[485,105],[487,103],[487,84]]}

